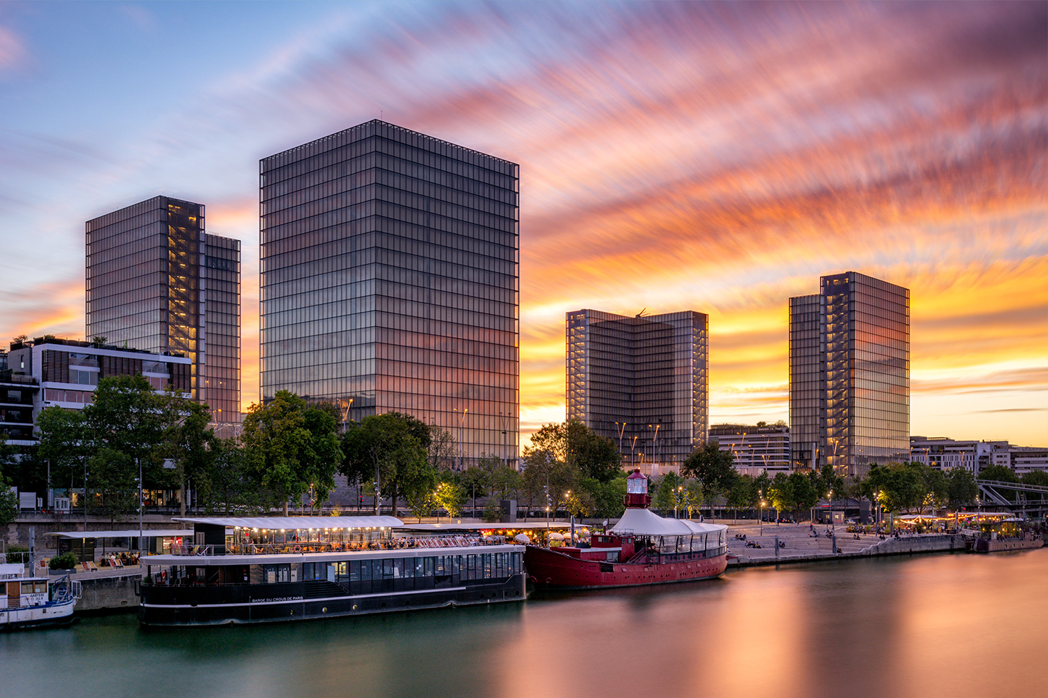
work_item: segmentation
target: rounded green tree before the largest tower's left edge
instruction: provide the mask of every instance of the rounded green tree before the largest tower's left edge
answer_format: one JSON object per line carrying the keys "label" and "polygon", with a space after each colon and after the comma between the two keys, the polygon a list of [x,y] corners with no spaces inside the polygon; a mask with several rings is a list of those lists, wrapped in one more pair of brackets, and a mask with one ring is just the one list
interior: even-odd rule
{"label": "rounded green tree before the largest tower's left edge", "polygon": [[248,410],[240,432],[245,472],[272,503],[283,504],[285,516],[288,500],[310,488],[315,500],[327,498],[342,461],[336,428],[327,409],[287,390]]}

